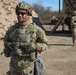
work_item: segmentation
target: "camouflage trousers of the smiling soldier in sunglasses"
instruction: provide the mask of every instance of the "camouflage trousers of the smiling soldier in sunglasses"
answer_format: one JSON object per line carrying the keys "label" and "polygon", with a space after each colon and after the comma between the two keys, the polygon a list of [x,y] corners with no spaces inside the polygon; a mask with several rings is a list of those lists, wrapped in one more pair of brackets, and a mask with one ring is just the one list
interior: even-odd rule
{"label": "camouflage trousers of the smiling soldier in sunglasses", "polygon": [[8,75],[34,75],[34,63],[26,58],[12,57]]}

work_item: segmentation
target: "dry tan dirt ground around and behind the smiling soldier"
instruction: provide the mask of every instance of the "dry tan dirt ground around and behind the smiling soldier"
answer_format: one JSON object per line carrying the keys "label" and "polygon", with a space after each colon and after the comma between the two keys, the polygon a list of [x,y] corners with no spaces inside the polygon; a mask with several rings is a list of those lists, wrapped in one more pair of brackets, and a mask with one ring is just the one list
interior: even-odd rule
{"label": "dry tan dirt ground around and behind the smiling soldier", "polygon": [[[49,27],[45,26],[49,31]],[[47,34],[50,44],[47,51],[41,54],[46,67],[45,75],[76,75],[76,48],[73,47],[71,34]],[[3,41],[0,41],[0,53]],[[0,75],[6,75],[9,70],[10,58],[0,55]]]}

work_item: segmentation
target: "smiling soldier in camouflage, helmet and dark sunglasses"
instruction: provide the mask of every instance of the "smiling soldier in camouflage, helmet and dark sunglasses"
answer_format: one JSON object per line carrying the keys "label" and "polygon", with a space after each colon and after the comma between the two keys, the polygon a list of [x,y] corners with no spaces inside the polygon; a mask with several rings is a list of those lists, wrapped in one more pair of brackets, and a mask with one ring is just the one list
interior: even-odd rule
{"label": "smiling soldier in camouflage, helmet and dark sunglasses", "polygon": [[45,32],[35,23],[29,22],[29,16],[32,16],[29,4],[19,3],[16,15],[18,23],[11,26],[4,37],[4,55],[11,57],[7,74],[42,75],[37,73],[36,67],[37,61],[41,61],[40,53],[48,47]]}

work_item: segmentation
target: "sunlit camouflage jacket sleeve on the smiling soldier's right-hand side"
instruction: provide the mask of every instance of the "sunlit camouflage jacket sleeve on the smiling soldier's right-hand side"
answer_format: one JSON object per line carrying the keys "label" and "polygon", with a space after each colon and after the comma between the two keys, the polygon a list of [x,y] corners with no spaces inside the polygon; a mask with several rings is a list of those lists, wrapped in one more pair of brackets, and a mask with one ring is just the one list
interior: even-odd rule
{"label": "sunlit camouflage jacket sleeve on the smiling soldier's right-hand side", "polygon": [[48,41],[45,32],[39,27],[37,30],[36,48],[39,51],[45,51],[48,48]]}

